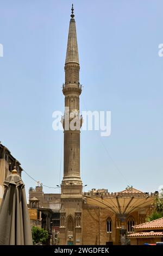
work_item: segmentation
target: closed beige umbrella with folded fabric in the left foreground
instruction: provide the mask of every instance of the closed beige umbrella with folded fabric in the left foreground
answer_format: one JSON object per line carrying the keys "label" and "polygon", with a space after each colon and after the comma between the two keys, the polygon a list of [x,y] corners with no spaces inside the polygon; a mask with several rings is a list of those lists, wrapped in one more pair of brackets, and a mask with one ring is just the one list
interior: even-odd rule
{"label": "closed beige umbrella with folded fabric in the left foreground", "polygon": [[0,208],[0,245],[33,245],[26,192],[16,169],[4,181]]}

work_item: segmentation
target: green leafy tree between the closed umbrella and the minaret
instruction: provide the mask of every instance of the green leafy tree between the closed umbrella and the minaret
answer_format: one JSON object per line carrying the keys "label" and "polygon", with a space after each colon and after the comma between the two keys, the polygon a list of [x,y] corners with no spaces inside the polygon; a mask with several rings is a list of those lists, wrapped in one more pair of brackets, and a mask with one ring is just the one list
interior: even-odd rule
{"label": "green leafy tree between the closed umbrella and the minaret", "polygon": [[39,242],[45,242],[48,239],[48,236],[49,235],[47,230],[39,227],[32,227],[32,239],[34,245]]}

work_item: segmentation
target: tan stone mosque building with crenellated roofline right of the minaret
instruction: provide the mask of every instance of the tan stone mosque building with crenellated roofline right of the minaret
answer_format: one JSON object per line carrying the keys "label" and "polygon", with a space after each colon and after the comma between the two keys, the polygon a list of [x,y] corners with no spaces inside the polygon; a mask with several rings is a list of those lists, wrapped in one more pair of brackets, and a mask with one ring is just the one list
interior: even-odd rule
{"label": "tan stone mosque building with crenellated roofline right of the minaret", "polygon": [[[121,192],[109,193],[108,190],[95,190],[85,192],[83,194],[83,222],[82,222],[82,230],[83,230],[83,245],[121,245],[121,230],[123,225],[123,230],[126,233],[124,244],[130,244],[130,239],[128,237],[129,234],[133,233],[133,226],[138,223],[144,223],[146,221],[146,217],[151,215],[153,211],[153,205],[148,204],[146,206],[141,206],[137,210],[131,211],[131,213],[126,214],[123,220],[123,223],[120,218],[120,214],[115,214],[108,206],[104,203],[104,208],[90,205],[85,201],[84,196],[90,196],[98,201],[98,198],[110,199],[113,201],[118,200],[122,201],[122,205],[120,205],[120,213],[124,208],[136,208],[137,202],[141,198],[153,198],[155,193],[144,193],[142,191],[136,190],[133,187],[127,187],[126,190]],[[121,200],[122,199],[122,200]],[[132,202],[135,199],[135,204],[125,203]],[[96,203],[95,203],[96,204]],[[123,204],[125,205],[123,208]],[[114,207],[114,206],[113,206]],[[116,207],[116,205],[115,205]]]}

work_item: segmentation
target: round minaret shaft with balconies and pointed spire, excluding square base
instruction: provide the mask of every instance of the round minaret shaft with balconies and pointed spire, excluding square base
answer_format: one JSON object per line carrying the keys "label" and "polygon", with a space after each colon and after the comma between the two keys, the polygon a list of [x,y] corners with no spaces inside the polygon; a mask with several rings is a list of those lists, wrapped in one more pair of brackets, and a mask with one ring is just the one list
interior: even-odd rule
{"label": "round minaret shaft with balconies and pointed spire, excluding square base", "polygon": [[[79,57],[76,33],[76,22],[74,20],[73,8],[68,32],[67,52],[65,61],[65,84],[62,92],[65,95],[65,115],[62,119],[64,127],[64,178],[62,185],[81,185],[80,178],[80,127],[82,118],[79,115],[79,95],[82,86],[79,83]],[[66,115],[67,109],[69,114]],[[77,118],[79,129],[66,129],[66,117],[70,117],[68,125],[74,117]]]}

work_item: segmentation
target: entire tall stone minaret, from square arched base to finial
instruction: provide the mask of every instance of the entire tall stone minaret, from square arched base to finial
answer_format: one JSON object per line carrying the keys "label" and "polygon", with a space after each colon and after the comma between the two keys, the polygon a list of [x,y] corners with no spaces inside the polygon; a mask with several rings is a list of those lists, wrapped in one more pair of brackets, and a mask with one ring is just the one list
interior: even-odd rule
{"label": "entire tall stone minaret, from square arched base to finial", "polygon": [[65,114],[62,117],[64,128],[64,177],[61,182],[60,245],[82,245],[82,180],[80,178],[80,127],[79,95],[79,56],[76,22],[73,14],[68,31],[65,61]]}

